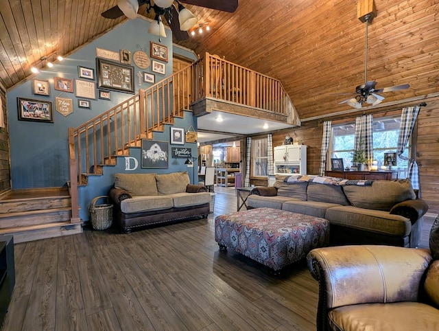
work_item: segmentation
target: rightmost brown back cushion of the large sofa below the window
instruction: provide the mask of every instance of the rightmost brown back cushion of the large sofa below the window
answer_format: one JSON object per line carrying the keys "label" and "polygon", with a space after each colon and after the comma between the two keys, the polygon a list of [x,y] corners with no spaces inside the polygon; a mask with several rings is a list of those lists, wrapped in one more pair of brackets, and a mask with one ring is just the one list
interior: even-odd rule
{"label": "rightmost brown back cushion of the large sofa below the window", "polygon": [[408,180],[373,181],[370,186],[346,185],[343,190],[351,205],[385,211],[390,211],[396,203],[416,198]]}

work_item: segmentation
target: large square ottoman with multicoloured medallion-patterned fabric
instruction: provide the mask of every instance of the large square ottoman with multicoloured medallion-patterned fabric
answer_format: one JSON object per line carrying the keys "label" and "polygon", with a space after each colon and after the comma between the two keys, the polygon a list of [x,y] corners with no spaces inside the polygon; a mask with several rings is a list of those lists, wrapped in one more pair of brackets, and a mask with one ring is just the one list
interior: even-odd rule
{"label": "large square ottoman with multicoloured medallion-patterned fabric", "polygon": [[256,208],[215,218],[215,241],[274,271],[329,242],[329,221],[280,209]]}

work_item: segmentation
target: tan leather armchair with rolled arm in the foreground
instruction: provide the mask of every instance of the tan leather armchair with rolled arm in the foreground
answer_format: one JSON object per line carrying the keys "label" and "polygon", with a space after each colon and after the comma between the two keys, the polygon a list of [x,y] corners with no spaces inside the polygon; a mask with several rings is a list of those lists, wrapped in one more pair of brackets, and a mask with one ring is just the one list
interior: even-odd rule
{"label": "tan leather armchair with rolled arm in the foreground", "polygon": [[317,330],[439,330],[439,260],[428,249],[355,245],[307,255]]}

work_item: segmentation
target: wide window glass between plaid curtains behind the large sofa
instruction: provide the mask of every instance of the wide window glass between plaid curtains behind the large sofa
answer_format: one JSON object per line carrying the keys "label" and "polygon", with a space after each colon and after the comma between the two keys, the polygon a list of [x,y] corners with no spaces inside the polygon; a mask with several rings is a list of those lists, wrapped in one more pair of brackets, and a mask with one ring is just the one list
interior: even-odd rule
{"label": "wide window glass between plaid curtains behind the large sofa", "polygon": [[[384,153],[396,152],[400,122],[399,117],[379,117],[373,121],[373,157],[378,161],[378,169],[384,165]],[[350,169],[353,166],[355,123],[333,126],[331,140],[331,158],[343,159],[344,168]],[[410,155],[409,145],[410,142],[403,152],[405,157]],[[406,160],[397,158],[396,168],[405,170],[407,166]]]}

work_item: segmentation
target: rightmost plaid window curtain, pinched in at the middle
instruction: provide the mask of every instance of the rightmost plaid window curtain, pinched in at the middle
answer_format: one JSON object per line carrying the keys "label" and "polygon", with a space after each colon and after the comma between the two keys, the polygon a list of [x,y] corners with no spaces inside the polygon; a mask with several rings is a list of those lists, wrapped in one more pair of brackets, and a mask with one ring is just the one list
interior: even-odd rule
{"label": "rightmost plaid window curtain, pinched in at the middle", "polygon": [[419,190],[418,163],[416,163],[416,159],[403,157],[403,152],[405,150],[405,146],[407,146],[409,142],[410,136],[412,135],[419,109],[419,106],[403,108],[403,111],[401,112],[401,124],[399,126],[398,149],[396,150],[398,157],[409,161],[408,177],[410,178],[410,181],[412,181],[412,187],[414,190]]}

